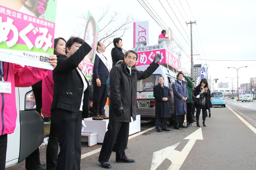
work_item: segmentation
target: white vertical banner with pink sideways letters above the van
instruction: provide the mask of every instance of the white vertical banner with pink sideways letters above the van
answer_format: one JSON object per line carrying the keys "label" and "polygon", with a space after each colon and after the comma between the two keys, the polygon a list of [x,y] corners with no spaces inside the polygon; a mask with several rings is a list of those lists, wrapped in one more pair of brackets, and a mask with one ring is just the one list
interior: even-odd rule
{"label": "white vertical banner with pink sideways letters above the van", "polygon": [[135,48],[136,43],[139,41],[147,41],[146,45],[149,44],[148,34],[149,34],[148,21],[134,22],[133,23],[133,48]]}

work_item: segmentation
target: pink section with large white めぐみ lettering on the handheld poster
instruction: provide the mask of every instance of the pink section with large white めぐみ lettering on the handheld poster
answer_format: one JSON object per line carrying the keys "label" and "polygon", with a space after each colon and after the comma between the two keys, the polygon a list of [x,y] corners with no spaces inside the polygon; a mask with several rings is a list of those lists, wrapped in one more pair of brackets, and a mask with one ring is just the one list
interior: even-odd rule
{"label": "pink section with large white \u3081\u3050\u307f lettering on the handheld poster", "polygon": [[1,5],[0,13],[5,14],[0,18],[1,28],[4,28],[1,36],[7,37],[8,47],[25,44],[27,50],[34,46],[38,49],[43,47],[44,51],[53,48],[54,23]]}

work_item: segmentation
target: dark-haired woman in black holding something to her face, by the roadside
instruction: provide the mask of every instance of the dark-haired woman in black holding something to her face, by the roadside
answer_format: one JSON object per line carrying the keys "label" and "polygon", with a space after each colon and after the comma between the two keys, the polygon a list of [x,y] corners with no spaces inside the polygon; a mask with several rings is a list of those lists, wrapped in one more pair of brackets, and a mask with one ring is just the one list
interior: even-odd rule
{"label": "dark-haired woman in black holding something to her face, by the roadside", "polygon": [[[205,92],[203,92],[203,89]],[[211,91],[208,88],[207,79],[202,79],[200,81],[199,85],[196,86],[196,88],[195,88],[194,95],[197,96],[199,94],[203,94],[202,92],[204,93],[204,96],[206,99],[205,104],[202,106],[202,105],[197,104],[196,102],[194,103],[194,106],[196,107],[196,125],[197,125],[197,127],[200,127],[199,116],[200,116],[201,109],[202,109],[202,113],[203,113],[203,125],[206,126],[205,119],[206,119],[206,115],[207,115],[207,109],[209,107],[212,107],[211,100],[210,100]]]}

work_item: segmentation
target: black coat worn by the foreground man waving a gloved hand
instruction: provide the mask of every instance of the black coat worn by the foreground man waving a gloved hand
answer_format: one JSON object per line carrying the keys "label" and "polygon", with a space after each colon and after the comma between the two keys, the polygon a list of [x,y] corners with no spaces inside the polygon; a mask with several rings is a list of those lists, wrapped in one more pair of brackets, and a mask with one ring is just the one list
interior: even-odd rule
{"label": "black coat worn by the foreground man waving a gloved hand", "polygon": [[[130,75],[129,69],[123,62],[112,67],[110,71],[110,105],[109,118],[117,122],[131,122],[136,120],[137,81],[146,79],[159,64],[151,63],[145,71],[138,71],[134,66]],[[124,114],[116,116],[115,109],[123,106]]]}

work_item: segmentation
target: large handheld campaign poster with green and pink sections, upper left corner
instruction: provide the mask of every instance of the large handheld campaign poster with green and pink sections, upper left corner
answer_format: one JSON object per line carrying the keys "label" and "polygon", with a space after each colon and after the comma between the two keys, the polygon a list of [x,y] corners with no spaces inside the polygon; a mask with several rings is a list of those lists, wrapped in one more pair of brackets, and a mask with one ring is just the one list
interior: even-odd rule
{"label": "large handheld campaign poster with green and pink sections, upper left corner", "polygon": [[0,1],[0,60],[53,70],[56,5],[57,0]]}

